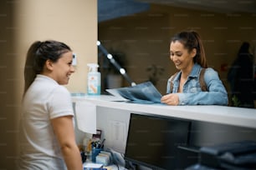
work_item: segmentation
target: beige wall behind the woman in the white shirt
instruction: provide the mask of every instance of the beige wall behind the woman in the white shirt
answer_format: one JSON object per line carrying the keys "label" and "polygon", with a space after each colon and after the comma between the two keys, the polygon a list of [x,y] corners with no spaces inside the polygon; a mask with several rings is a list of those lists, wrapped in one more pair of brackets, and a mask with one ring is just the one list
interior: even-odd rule
{"label": "beige wall behind the woman in the white shirt", "polygon": [[55,39],[67,43],[77,54],[76,72],[67,85],[69,91],[85,92],[86,64],[97,62],[97,1],[23,0],[17,4],[15,20],[19,81],[23,82],[25,54],[31,43]]}

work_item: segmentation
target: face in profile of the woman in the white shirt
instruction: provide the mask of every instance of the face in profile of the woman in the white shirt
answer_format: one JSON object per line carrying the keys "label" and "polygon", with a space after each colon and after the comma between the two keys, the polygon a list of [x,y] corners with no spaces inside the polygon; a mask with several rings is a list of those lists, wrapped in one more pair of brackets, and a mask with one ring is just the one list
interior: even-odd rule
{"label": "face in profile of the woman in the white shirt", "polygon": [[52,62],[51,77],[60,85],[69,83],[69,77],[74,72],[72,61],[73,52],[65,52],[57,62]]}

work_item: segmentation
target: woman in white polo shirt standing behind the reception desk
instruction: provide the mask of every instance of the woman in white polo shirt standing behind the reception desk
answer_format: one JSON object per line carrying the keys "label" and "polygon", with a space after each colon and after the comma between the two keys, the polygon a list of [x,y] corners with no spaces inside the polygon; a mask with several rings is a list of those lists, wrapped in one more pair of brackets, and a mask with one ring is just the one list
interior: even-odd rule
{"label": "woman in white polo shirt standing behind the reception desk", "polygon": [[73,52],[63,42],[33,42],[24,68],[18,169],[81,170],[68,84]]}

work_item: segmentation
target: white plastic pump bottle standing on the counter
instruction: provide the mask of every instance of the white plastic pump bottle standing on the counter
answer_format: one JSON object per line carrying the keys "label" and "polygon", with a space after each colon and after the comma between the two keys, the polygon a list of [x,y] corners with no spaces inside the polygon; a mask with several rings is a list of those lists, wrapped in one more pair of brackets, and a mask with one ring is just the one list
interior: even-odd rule
{"label": "white plastic pump bottle standing on the counter", "polygon": [[88,95],[100,95],[100,72],[98,72],[99,65],[96,63],[87,64],[89,67],[87,77],[87,93]]}

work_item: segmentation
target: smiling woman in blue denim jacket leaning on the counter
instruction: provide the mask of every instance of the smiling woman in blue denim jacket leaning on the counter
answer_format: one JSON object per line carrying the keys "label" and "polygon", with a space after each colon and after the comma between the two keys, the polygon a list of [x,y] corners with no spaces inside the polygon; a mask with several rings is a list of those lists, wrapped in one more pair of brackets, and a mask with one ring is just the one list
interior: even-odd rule
{"label": "smiling woman in blue denim jacket leaning on the counter", "polygon": [[207,67],[197,32],[184,31],[172,37],[170,59],[179,70],[167,82],[161,102],[168,105],[228,105],[228,93],[218,72]]}

